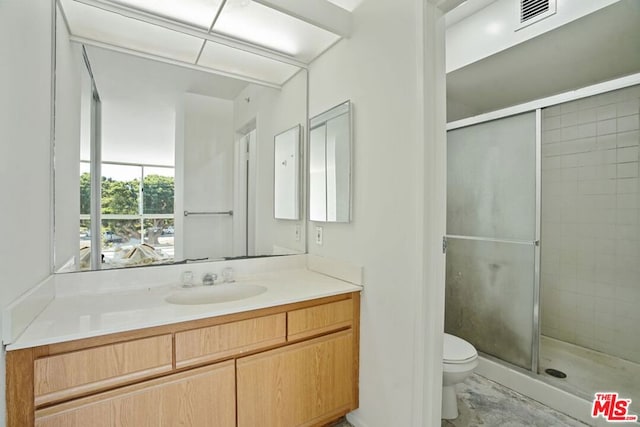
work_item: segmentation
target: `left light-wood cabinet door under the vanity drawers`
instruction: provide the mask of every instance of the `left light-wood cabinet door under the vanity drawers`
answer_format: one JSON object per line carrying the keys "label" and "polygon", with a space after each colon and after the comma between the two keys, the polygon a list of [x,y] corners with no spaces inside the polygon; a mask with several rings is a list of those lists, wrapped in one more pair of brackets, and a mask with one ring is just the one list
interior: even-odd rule
{"label": "left light-wood cabinet door under the vanity drawers", "polygon": [[36,427],[232,427],[228,361],[36,411]]}

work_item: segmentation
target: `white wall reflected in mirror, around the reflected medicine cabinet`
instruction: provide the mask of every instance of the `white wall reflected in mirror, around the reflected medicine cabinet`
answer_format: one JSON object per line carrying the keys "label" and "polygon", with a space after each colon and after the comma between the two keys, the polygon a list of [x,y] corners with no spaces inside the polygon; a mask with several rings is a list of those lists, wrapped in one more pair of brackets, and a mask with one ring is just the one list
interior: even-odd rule
{"label": "white wall reflected in mirror, around the reflected medicine cabinet", "polygon": [[[236,131],[255,120],[256,141],[256,212],[255,250],[256,254],[272,254],[278,249],[289,253],[305,251],[304,235],[295,239],[295,227],[302,221],[277,220],[273,208],[273,159],[275,135],[300,124],[303,126],[302,146],[305,146],[304,129],[306,122],[307,73],[302,71],[291,78],[281,90],[248,86],[234,102],[234,123]],[[249,102],[246,101],[249,98]],[[304,158],[304,155],[302,156]],[[304,164],[301,167],[305,167]],[[305,188],[304,179],[300,188]],[[305,218],[304,206],[300,206],[300,218]]]}

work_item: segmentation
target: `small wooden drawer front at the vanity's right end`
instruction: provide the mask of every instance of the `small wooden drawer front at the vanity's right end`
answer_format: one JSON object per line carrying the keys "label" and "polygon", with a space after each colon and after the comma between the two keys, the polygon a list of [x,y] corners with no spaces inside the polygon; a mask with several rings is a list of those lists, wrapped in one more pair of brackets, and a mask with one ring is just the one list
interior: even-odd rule
{"label": "small wooden drawer front at the vanity's right end", "polygon": [[353,300],[332,302],[287,313],[287,339],[296,340],[351,326]]}

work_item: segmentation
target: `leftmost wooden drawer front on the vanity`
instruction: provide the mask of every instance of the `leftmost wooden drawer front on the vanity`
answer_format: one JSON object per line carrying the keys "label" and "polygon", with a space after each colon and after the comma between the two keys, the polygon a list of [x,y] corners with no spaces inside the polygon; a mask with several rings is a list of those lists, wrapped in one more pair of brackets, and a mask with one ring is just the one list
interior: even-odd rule
{"label": "leftmost wooden drawer front on the vanity", "polygon": [[130,383],[172,369],[171,334],[34,361],[36,406]]}

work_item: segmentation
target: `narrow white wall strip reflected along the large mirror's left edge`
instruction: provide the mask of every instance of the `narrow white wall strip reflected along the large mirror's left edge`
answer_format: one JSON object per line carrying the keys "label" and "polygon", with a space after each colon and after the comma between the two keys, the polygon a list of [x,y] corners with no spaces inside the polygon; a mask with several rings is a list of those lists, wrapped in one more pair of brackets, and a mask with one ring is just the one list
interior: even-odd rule
{"label": "narrow white wall strip reflected along the large mirror's left edge", "polygon": [[[55,228],[54,270],[79,255],[80,214],[80,105],[83,83],[82,54],[69,40],[61,14],[56,17],[56,127],[55,127]],[[74,258],[75,257],[75,258]],[[72,266],[72,267],[73,267]]]}

